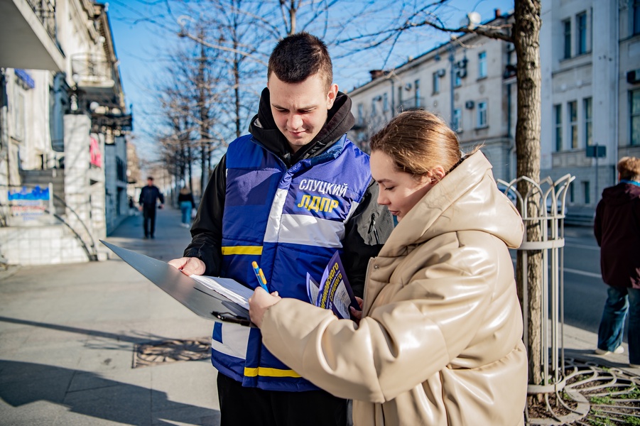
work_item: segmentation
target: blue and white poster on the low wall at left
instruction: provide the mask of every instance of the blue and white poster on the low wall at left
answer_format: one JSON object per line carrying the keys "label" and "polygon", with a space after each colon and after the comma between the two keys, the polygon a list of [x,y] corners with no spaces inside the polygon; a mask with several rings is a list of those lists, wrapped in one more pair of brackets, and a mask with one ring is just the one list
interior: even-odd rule
{"label": "blue and white poster on the low wall at left", "polygon": [[53,195],[50,187],[23,186],[8,191],[9,226],[53,224]]}

